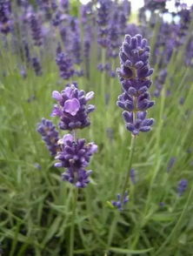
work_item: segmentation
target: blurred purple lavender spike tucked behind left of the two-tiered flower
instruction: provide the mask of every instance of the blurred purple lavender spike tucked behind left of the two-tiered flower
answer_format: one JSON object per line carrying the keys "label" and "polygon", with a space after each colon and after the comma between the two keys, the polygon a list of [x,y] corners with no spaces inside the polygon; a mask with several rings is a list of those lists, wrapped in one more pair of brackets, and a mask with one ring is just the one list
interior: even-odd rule
{"label": "blurred purple lavender spike tucked behind left of the two-tiered flower", "polygon": [[57,145],[59,137],[55,125],[50,120],[42,118],[41,123],[37,124],[37,131],[42,135],[50,154],[56,156],[59,150],[59,145]]}

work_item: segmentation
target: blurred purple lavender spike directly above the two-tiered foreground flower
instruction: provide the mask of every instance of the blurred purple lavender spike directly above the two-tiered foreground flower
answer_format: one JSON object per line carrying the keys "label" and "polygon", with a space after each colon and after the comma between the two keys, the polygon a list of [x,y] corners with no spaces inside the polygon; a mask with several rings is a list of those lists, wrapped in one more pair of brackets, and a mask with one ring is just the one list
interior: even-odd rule
{"label": "blurred purple lavender spike directly above the two-tiered foreground flower", "polygon": [[63,52],[57,53],[56,62],[60,70],[60,76],[63,79],[69,79],[74,75],[75,70],[73,69],[73,63],[67,54]]}

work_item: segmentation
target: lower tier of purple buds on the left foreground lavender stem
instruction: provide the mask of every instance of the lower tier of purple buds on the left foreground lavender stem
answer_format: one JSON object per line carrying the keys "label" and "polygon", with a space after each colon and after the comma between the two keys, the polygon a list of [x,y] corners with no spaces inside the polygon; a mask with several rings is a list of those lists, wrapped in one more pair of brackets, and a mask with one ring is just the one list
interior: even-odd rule
{"label": "lower tier of purple buds on the left foreground lavender stem", "polygon": [[69,181],[77,187],[85,187],[89,182],[92,171],[86,171],[91,156],[97,152],[97,145],[94,143],[86,144],[85,139],[74,139],[71,134],[66,134],[59,140],[61,152],[58,152],[55,164],[56,167],[67,168],[63,172],[63,180]]}

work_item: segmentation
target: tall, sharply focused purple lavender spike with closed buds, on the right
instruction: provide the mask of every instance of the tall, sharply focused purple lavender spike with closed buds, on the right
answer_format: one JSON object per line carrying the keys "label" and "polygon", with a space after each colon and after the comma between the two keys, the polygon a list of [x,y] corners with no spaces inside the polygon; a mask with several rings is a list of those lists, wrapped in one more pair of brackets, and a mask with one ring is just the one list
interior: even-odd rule
{"label": "tall, sharply focused purple lavender spike with closed buds, on the right", "polygon": [[117,105],[123,108],[126,128],[133,135],[140,131],[150,131],[153,118],[146,118],[147,110],[154,104],[150,100],[151,81],[149,57],[150,47],[141,35],[126,35],[120,49],[121,68],[117,69],[123,93],[118,97]]}

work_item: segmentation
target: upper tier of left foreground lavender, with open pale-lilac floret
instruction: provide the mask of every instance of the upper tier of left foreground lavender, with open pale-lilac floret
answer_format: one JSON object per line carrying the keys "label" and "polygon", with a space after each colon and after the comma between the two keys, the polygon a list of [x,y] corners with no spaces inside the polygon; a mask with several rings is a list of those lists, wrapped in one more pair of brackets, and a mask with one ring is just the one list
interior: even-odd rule
{"label": "upper tier of left foreground lavender, with open pale-lilac floret", "polygon": [[88,114],[95,110],[95,106],[87,105],[87,102],[93,97],[93,91],[85,94],[85,91],[77,88],[77,84],[67,84],[63,91],[52,92],[52,98],[55,98],[58,104],[55,104],[51,116],[60,118],[59,127],[62,130],[72,131],[89,126]]}

